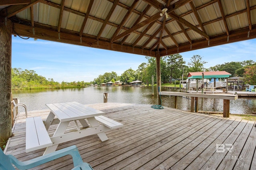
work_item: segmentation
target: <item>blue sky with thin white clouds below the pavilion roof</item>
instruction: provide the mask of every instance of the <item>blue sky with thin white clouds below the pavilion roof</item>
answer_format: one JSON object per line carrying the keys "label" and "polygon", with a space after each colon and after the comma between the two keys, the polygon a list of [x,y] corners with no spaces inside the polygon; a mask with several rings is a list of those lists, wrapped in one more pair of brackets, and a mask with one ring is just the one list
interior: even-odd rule
{"label": "blue sky with thin white clouds below the pavilion roof", "polygon": [[[186,64],[200,55],[205,68],[232,61],[256,61],[256,39],[180,53]],[[53,41],[24,40],[12,37],[12,68],[34,70],[57,82],[90,82],[105,72],[120,76],[125,70],[137,70],[145,56],[69,45]]]}

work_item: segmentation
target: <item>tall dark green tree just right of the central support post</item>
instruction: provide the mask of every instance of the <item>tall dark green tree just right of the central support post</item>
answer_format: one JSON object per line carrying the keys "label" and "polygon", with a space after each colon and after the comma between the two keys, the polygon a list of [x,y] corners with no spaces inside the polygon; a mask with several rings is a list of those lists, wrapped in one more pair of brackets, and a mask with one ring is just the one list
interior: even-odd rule
{"label": "tall dark green tree just right of the central support post", "polygon": [[170,83],[172,83],[172,78],[179,78],[182,75],[180,73],[181,70],[183,72],[185,63],[182,55],[179,53],[167,56],[168,70],[170,70]]}

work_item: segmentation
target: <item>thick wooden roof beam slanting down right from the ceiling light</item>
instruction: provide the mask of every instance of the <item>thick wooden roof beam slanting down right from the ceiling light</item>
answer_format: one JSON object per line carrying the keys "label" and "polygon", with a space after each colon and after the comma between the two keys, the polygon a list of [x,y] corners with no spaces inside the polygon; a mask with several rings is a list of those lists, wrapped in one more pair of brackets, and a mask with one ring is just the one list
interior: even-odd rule
{"label": "thick wooden roof beam slanting down right from the ceiling light", "polygon": [[168,13],[170,15],[171,18],[173,18],[174,20],[180,22],[182,25],[185,25],[189,28],[191,28],[193,31],[199,33],[200,35],[202,35],[203,37],[205,37],[207,40],[209,39],[209,35],[207,35],[206,33],[204,33],[203,31],[201,31],[200,29],[198,29],[198,27],[196,27],[195,25],[193,25],[192,23],[184,20],[183,18],[181,18],[180,16],[174,14],[174,13]]}

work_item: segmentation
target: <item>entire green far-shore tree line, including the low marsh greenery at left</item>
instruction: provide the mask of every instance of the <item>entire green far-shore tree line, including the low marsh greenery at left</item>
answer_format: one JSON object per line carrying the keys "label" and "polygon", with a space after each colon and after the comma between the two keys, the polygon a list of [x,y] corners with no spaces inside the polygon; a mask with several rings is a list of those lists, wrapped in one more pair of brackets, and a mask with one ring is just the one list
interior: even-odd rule
{"label": "entire green far-shore tree line, including the low marsh greenery at left", "polygon": [[[140,80],[146,84],[150,84],[152,76],[156,82],[156,59],[155,57],[145,57],[148,62],[141,63],[137,70],[129,68],[120,76],[116,72],[106,72],[94,78],[92,82],[55,82],[52,78],[46,79],[36,74],[34,70],[22,70],[21,68],[12,68],[12,89],[47,89],[47,88],[82,88],[90,84],[101,84],[106,82],[115,82],[120,80],[124,84],[129,84],[134,80]],[[176,79],[186,80],[188,72],[201,71],[226,71],[232,76],[240,76],[244,78],[247,84],[256,84],[256,63],[252,60],[242,62],[230,62],[217,64],[210,68],[204,68],[206,61],[202,60],[200,55],[191,57],[190,62],[186,64],[182,55],[179,53],[161,57],[161,81],[163,83],[172,82]]]}

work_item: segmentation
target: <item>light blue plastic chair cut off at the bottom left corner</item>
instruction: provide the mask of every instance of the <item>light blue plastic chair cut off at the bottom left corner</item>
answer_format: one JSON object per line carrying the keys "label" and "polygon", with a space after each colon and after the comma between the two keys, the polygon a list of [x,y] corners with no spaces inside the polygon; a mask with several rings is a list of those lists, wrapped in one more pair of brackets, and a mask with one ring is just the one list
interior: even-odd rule
{"label": "light blue plastic chair cut off at the bottom left corner", "polygon": [[24,162],[17,160],[10,154],[4,154],[0,149],[0,170],[15,170],[12,164],[20,170],[27,170],[69,154],[72,156],[74,163],[72,170],[93,170],[88,163],[83,162],[75,145]]}

